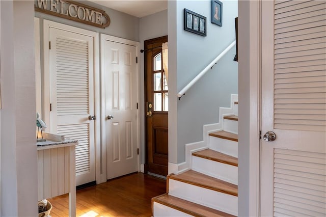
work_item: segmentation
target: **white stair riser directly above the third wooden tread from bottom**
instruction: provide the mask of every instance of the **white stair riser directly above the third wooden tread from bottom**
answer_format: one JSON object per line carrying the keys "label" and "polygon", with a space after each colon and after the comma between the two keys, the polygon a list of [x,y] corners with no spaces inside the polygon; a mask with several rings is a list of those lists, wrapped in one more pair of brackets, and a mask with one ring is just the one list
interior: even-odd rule
{"label": "white stair riser directly above the third wooden tread from bottom", "polygon": [[235,141],[209,137],[209,148],[233,157],[238,157],[238,142]]}

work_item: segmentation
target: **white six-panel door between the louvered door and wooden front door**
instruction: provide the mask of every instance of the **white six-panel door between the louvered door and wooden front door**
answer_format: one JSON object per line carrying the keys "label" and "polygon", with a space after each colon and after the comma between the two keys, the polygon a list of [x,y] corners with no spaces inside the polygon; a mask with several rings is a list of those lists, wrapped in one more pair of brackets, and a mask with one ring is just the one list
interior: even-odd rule
{"label": "white six-panel door between the louvered door and wooden front door", "polygon": [[138,171],[137,64],[135,46],[104,43],[107,179],[112,179]]}

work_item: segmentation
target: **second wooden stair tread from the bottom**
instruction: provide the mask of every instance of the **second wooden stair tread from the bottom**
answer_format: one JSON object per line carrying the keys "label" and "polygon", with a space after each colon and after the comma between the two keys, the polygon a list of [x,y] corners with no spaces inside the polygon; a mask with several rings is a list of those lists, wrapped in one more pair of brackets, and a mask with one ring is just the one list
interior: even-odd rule
{"label": "second wooden stair tread from the bottom", "polygon": [[238,196],[238,186],[229,182],[207,176],[205,174],[189,170],[179,175],[169,175],[168,179],[185,182],[188,184],[204,187],[213,191]]}

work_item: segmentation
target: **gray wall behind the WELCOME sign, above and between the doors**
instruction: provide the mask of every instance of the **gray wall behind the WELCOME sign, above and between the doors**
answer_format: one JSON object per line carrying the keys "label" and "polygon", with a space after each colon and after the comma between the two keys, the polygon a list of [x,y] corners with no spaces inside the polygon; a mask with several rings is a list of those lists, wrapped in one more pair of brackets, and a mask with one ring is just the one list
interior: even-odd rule
{"label": "gray wall behind the WELCOME sign, above and between the doors", "polygon": [[[95,26],[86,25],[72,20],[35,12],[35,17],[40,18],[41,34],[41,68],[43,68],[43,19],[72,25],[85,30],[103,33],[111,36],[125,38],[133,41],[140,41],[140,48],[144,47],[144,40],[168,35],[168,11],[164,10],[153,15],[138,18],[110,8],[106,8],[90,1],[77,1],[98,9],[104,10],[111,19],[111,24],[106,29],[100,29]],[[141,120],[141,163],[145,162],[145,139],[144,139],[144,54],[139,57],[140,63],[140,120]]]}

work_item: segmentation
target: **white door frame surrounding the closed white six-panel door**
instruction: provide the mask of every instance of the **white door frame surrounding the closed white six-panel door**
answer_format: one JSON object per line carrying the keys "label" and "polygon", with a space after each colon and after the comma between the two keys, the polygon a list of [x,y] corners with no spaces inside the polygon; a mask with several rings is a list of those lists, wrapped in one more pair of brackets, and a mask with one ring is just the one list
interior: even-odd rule
{"label": "white door frame surrounding the closed white six-panel door", "polygon": [[[123,39],[123,38],[118,38],[115,36],[110,36],[110,35],[105,35],[105,34],[100,34],[100,41],[101,41],[101,49],[100,49],[100,57],[101,57],[101,73],[100,73],[100,84],[101,84],[101,116],[100,116],[100,125],[101,125],[101,177],[100,177],[100,182],[106,182],[106,169],[107,169],[107,164],[106,164],[106,124],[105,124],[105,87],[104,87],[104,41],[113,41],[113,42],[117,42],[117,43],[122,43],[122,44],[127,44],[127,45],[131,45],[131,46],[135,46],[136,47],[136,55],[137,57],[140,57],[140,43],[136,42],[136,41],[131,41],[128,39]],[[139,76],[139,72],[140,72],[140,64],[137,63],[137,102],[140,102],[140,98],[139,98],[139,88],[140,88],[140,76]],[[139,106],[141,106],[139,104]],[[137,148],[140,149],[139,147],[140,145],[140,109],[137,110]],[[96,150],[97,151],[97,150]],[[137,156],[138,158],[138,172],[140,171],[140,154]]]}

